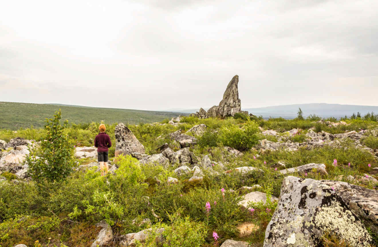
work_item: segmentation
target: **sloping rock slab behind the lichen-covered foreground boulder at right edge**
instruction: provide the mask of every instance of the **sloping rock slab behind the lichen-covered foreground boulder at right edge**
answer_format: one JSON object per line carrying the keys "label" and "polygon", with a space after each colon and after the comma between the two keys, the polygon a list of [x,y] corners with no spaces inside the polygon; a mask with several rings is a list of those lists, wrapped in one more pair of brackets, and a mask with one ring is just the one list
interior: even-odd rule
{"label": "sloping rock slab behind the lichen-covered foreground boulder at right edge", "polygon": [[363,219],[373,232],[378,232],[378,191],[341,181],[321,182],[333,188],[359,219]]}

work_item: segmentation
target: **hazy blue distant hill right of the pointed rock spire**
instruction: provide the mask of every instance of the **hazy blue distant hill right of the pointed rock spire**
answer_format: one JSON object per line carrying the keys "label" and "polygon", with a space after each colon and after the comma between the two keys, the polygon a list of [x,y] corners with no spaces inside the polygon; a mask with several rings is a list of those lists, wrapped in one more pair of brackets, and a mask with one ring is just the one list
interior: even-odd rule
{"label": "hazy blue distant hill right of the pointed rock spire", "polygon": [[363,117],[368,112],[378,113],[378,106],[356,106],[356,105],[346,105],[346,104],[326,104],[326,103],[314,103],[314,104],[291,104],[282,106],[268,106],[260,108],[246,108],[243,110],[248,110],[256,116],[262,115],[263,118],[277,118],[282,117],[286,119],[296,118],[299,107],[303,112],[303,116],[308,115],[318,115],[322,118],[335,117],[341,118],[347,115],[350,117],[353,112],[361,113]]}

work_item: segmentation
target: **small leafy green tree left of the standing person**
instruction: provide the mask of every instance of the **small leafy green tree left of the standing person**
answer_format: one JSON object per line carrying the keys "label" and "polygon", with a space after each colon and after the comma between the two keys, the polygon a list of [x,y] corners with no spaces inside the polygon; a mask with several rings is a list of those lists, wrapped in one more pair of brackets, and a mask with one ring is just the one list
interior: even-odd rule
{"label": "small leafy green tree left of the standing person", "polygon": [[46,137],[39,150],[42,157],[36,156],[36,150],[31,150],[31,155],[27,157],[29,173],[37,183],[64,181],[75,164],[73,146],[64,133],[68,121],[61,125],[61,116],[59,109],[55,112],[54,119],[45,120]]}

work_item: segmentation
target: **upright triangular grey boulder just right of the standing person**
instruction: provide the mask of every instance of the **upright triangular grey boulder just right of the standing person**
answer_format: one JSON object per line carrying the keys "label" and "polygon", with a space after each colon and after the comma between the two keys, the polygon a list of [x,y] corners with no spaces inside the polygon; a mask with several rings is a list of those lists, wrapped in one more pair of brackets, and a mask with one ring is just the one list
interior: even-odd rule
{"label": "upright triangular grey boulder just right of the standing person", "polygon": [[123,123],[116,126],[114,133],[116,137],[115,156],[121,153],[124,155],[130,155],[133,152],[145,153],[144,146]]}

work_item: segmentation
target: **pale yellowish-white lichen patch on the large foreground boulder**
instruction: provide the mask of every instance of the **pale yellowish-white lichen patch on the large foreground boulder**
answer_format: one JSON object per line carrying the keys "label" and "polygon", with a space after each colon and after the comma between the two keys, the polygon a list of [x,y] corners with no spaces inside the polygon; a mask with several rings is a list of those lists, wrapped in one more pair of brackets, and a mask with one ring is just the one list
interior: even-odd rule
{"label": "pale yellowish-white lichen patch on the large foreground boulder", "polygon": [[361,222],[355,221],[350,210],[343,212],[343,207],[337,201],[332,201],[329,207],[322,207],[314,218],[314,224],[331,233],[337,233],[351,246],[370,246],[369,242],[372,241]]}

